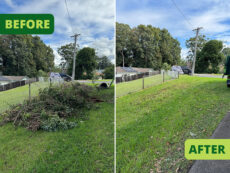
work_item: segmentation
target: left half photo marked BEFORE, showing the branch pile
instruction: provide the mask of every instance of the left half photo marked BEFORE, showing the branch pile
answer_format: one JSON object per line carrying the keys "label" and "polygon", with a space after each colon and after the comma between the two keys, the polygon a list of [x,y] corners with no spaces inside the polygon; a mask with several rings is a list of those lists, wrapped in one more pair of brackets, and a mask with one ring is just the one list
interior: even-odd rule
{"label": "left half photo marked BEFORE, showing the branch pile", "polygon": [[0,1],[0,172],[114,172],[112,0]]}

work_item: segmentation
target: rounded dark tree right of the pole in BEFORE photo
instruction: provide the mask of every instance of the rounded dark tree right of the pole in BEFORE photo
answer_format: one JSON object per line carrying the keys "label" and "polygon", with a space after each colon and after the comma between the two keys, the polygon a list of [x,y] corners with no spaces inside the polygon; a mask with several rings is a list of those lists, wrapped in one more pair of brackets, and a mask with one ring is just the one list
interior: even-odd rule
{"label": "rounded dark tree right of the pole in BEFORE photo", "polygon": [[[68,68],[68,73],[72,74],[72,62]],[[78,51],[76,56],[76,79],[92,79],[93,71],[96,69],[95,50],[90,47],[85,47]]]}

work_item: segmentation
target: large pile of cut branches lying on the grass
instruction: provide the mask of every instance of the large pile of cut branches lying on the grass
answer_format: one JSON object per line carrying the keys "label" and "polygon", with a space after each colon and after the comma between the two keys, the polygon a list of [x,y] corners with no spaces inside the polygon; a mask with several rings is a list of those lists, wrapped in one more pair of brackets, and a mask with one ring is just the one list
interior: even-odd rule
{"label": "large pile of cut branches lying on the grass", "polygon": [[83,116],[83,110],[92,107],[98,97],[92,86],[79,83],[51,86],[39,91],[33,99],[14,105],[2,114],[1,124],[12,122],[32,131],[56,131],[75,127],[69,117]]}

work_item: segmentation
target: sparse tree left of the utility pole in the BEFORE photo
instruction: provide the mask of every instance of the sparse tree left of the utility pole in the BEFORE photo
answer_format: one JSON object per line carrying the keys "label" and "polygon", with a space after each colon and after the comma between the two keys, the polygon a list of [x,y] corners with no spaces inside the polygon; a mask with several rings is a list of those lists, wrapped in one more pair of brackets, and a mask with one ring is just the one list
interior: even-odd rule
{"label": "sparse tree left of the utility pole in the BEFORE photo", "polygon": [[74,44],[66,44],[58,48],[58,54],[62,57],[61,63],[59,66],[62,69],[68,68],[68,66],[73,61],[73,54],[74,54]]}

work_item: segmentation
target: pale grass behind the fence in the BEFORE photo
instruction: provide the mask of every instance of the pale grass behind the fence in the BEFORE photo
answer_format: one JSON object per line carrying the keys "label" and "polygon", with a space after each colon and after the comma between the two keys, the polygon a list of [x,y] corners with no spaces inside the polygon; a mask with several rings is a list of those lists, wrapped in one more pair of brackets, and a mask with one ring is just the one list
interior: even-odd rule
{"label": "pale grass behind the fence in the BEFORE photo", "polygon": [[[36,96],[40,88],[48,86],[48,82],[35,82],[31,84],[31,96]],[[0,92],[0,113],[7,110],[10,105],[22,103],[29,98],[29,85],[17,87]]]}

